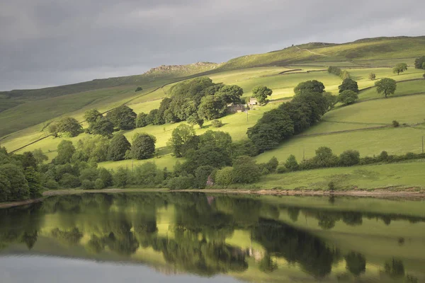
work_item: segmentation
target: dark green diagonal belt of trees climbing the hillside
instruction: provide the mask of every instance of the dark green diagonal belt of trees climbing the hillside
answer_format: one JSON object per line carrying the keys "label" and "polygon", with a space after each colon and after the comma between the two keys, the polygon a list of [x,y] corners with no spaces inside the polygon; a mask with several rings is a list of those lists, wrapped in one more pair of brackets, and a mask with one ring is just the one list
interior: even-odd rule
{"label": "dark green diagonal belt of trees climbing the hillside", "polygon": [[248,129],[247,135],[260,152],[273,149],[294,134],[319,121],[334,104],[324,93],[319,81],[305,81],[294,88],[293,100],[279,105],[277,109],[263,114],[263,117]]}

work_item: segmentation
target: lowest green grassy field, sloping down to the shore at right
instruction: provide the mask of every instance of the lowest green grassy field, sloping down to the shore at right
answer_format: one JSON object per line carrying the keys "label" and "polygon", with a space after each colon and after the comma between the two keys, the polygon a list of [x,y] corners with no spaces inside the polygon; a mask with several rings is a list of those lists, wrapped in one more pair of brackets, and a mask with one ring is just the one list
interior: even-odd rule
{"label": "lowest green grassy field, sloping down to the shore at right", "polygon": [[264,176],[258,187],[286,190],[302,188],[307,190],[327,190],[329,182],[336,189],[371,190],[384,187],[425,187],[425,161],[392,163],[351,168],[327,168]]}

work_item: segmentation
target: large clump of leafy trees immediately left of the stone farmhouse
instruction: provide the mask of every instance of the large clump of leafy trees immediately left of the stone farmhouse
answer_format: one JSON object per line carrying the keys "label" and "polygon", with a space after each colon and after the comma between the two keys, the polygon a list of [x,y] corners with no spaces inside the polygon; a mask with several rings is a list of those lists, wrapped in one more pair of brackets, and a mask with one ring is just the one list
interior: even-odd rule
{"label": "large clump of leafy trees immediately left of the stone farmhouse", "polygon": [[177,83],[169,93],[171,96],[164,98],[158,109],[137,115],[137,127],[181,121],[202,127],[204,120],[225,116],[229,103],[242,103],[244,91],[239,86],[212,83],[211,79],[200,77]]}

